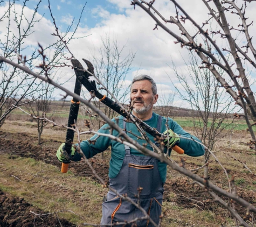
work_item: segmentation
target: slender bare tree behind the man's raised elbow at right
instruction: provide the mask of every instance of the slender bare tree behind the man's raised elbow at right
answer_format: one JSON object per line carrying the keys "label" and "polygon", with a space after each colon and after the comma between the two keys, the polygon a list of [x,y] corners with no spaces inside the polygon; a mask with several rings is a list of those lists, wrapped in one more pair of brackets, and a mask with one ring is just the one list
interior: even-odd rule
{"label": "slender bare tree behind the man's raised elbow at right", "polygon": [[[198,56],[189,53],[189,61],[184,62],[185,72],[178,72],[174,62],[172,69],[178,79],[179,86],[174,86],[179,96],[190,105],[192,122],[196,136],[203,144],[213,150],[216,142],[231,133],[234,128],[232,98],[225,93],[225,89],[215,80],[207,68],[199,68]],[[220,75],[224,74],[219,70]],[[204,154],[204,177],[207,178],[210,152]]]}

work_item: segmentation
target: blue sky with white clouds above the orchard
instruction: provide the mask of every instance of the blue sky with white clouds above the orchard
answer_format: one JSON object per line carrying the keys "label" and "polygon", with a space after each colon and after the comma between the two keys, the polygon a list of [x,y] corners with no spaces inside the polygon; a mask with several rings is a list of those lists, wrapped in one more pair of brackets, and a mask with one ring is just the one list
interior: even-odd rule
{"label": "blue sky with white clouds above the orchard", "polygon": [[[36,0],[30,0],[26,3],[25,13],[28,17],[37,2]],[[185,10],[190,12],[190,16],[200,25],[209,18],[202,1],[181,0],[178,2]],[[18,4],[22,4],[22,2],[20,1]],[[38,17],[43,16],[43,19],[34,27],[36,32],[27,39],[29,45],[36,46],[37,42],[40,42],[41,45],[46,46],[53,39],[50,34],[54,32],[54,27],[47,5],[48,1],[41,1]],[[175,77],[174,70],[171,66],[174,63],[178,72],[184,74],[184,76],[188,76],[188,73],[186,73],[186,64],[189,65],[188,50],[181,48],[179,44],[175,44],[176,40],[161,28],[153,30],[155,27],[154,20],[140,9],[139,6],[136,6],[134,10],[134,6],[130,5],[130,0],[89,0],[87,2],[81,0],[51,0],[50,5],[59,30],[62,32],[65,32],[67,27],[71,25],[73,18],[74,24],[78,22],[81,10],[85,5],[78,31],[75,34],[76,37],[85,38],[75,39],[69,45],[72,53],[78,60],[81,61],[82,58],[91,60],[93,55],[96,57],[99,56],[102,37],[109,36],[111,40],[117,40],[120,47],[126,46],[123,51],[123,57],[131,52],[136,54],[132,64],[133,68],[126,78],[127,83],[130,83],[135,75],[150,75],[157,83],[160,99],[163,96],[168,96],[175,92],[173,84],[179,89],[183,89]],[[0,5],[0,12],[4,11],[5,6],[3,3]],[[169,18],[170,15],[175,16],[175,8],[170,1],[158,0],[154,3],[154,6],[162,12],[165,18]],[[247,15],[253,18],[255,14],[253,9],[255,9],[254,6],[256,4],[251,3],[251,6],[247,10]],[[231,15],[229,19],[234,25],[238,25],[239,21],[236,17]],[[196,32],[190,23],[186,22],[184,25],[189,31]],[[168,26],[173,31],[178,31],[175,25],[168,24]],[[215,26],[215,24],[211,26]],[[1,27],[0,37],[1,32],[2,35],[4,33],[4,27]],[[251,31],[254,32],[254,30]],[[179,31],[178,34],[180,34]],[[236,36],[239,38],[240,35],[236,34]],[[256,37],[256,34],[254,37]],[[240,44],[244,42],[245,40],[241,39]],[[221,45],[225,46],[225,43]],[[73,75],[72,69],[63,68],[59,82],[67,81]],[[64,84],[64,87],[70,90],[73,89],[73,86],[74,77]],[[54,92],[57,100],[62,97],[61,94],[63,92],[58,90]],[[178,97],[175,98],[174,105],[189,108],[189,105],[181,101]]]}

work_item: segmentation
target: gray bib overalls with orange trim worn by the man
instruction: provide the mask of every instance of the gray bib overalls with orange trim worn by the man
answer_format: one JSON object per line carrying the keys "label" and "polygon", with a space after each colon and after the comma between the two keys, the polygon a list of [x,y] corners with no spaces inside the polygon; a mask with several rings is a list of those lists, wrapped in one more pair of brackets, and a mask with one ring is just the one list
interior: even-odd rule
{"label": "gray bib overalls with orange trim worn by the man", "polygon": [[[160,116],[157,121],[157,131],[161,130],[161,123],[162,117]],[[123,128],[126,129],[124,120]],[[163,183],[158,172],[158,160],[152,157],[130,154],[130,147],[127,145],[124,145],[124,148],[126,154],[122,167],[115,178],[109,179],[109,186],[117,190],[121,195],[127,194],[136,203],[137,189],[142,187],[143,189],[140,193],[141,207],[158,224],[163,199]],[[108,191],[107,201],[102,203],[101,224],[132,221],[143,216],[143,213],[133,204],[122,200],[112,191]],[[147,219],[141,219],[136,224],[137,226],[153,226]]]}

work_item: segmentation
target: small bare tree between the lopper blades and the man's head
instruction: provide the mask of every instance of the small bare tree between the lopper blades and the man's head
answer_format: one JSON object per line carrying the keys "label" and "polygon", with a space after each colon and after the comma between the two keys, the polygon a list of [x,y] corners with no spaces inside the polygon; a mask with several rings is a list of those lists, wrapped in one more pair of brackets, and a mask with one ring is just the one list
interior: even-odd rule
{"label": "small bare tree between the lopper blades and the man's head", "polygon": [[[126,46],[120,46],[117,39],[111,41],[108,34],[101,38],[102,46],[99,53],[93,54],[93,65],[95,76],[105,85],[99,84],[99,89],[104,89],[106,96],[113,100],[115,97],[119,102],[127,102],[129,84],[126,84],[126,76],[132,69],[132,62],[135,58],[133,52],[125,53]],[[100,106],[99,106],[100,108]],[[103,112],[108,118],[116,116],[116,112],[103,107]]]}

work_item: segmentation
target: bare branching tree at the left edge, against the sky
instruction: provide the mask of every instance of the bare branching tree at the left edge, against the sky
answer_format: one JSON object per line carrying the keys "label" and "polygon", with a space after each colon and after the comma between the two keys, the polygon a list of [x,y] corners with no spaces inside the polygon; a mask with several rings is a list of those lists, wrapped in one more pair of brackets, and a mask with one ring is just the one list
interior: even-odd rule
{"label": "bare branching tree at the left edge, against the sky", "polygon": [[[48,36],[51,39],[47,40],[51,40],[51,43],[47,46],[39,45],[38,50],[38,45],[30,45],[29,39],[36,32],[34,27],[41,23],[41,20],[44,20],[42,23],[47,23],[45,18],[38,14],[41,0],[38,1],[33,11],[26,7],[27,2],[28,0],[25,0],[23,5],[20,5],[15,0],[9,1],[9,3],[0,1],[0,7],[4,10],[0,16],[0,24],[2,28],[5,28],[4,32],[0,34],[0,55],[11,61],[16,61],[18,64],[24,62],[26,67],[36,70],[40,75],[53,75],[57,65],[60,67],[61,63],[67,62],[65,48],[73,39],[80,19],[73,32],[71,32],[71,25],[65,33],[61,33],[55,26],[55,20],[51,13],[55,31],[54,26],[48,27],[49,31],[45,31],[49,32]],[[51,9],[50,2],[49,9]],[[81,15],[83,11],[84,8]],[[70,36],[66,37],[67,34]],[[66,42],[61,40],[63,37],[66,37]],[[43,62],[39,64],[41,58],[43,58]],[[38,93],[39,90],[41,93]],[[36,78],[31,77],[30,74],[0,61],[0,127],[16,107],[33,100],[42,100],[50,90],[42,87],[41,81],[36,81]],[[49,95],[46,96],[49,97]]]}

